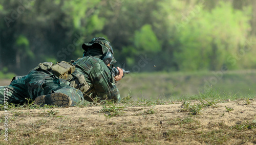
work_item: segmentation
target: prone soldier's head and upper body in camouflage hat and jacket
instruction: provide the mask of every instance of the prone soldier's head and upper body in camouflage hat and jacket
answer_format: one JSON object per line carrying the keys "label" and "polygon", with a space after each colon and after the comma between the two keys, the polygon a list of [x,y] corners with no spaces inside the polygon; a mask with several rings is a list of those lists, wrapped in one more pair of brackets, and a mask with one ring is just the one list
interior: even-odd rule
{"label": "prone soldier's head and upper body in camouflage hat and jacket", "polygon": [[115,85],[112,68],[107,66],[116,62],[110,42],[103,37],[95,37],[89,43],[83,43],[82,49],[84,57],[73,63],[76,70],[72,76],[75,79],[84,79],[80,81],[83,87],[73,86],[72,82],[71,86],[80,89],[87,101],[92,101],[96,96],[101,100],[119,101],[120,94]]}

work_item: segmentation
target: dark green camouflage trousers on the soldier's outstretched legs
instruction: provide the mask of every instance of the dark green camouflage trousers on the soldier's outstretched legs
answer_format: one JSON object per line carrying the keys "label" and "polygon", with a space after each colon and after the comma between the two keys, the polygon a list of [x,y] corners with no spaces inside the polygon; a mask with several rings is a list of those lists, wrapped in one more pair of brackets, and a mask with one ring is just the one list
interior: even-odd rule
{"label": "dark green camouflage trousers on the soldier's outstretched legs", "polygon": [[[69,82],[57,78],[47,70],[32,70],[28,75],[16,77],[8,86],[0,86],[0,104],[24,104],[39,95],[54,92],[70,96],[72,106],[83,102],[82,92],[69,86]],[[6,102],[5,102],[6,101]]]}

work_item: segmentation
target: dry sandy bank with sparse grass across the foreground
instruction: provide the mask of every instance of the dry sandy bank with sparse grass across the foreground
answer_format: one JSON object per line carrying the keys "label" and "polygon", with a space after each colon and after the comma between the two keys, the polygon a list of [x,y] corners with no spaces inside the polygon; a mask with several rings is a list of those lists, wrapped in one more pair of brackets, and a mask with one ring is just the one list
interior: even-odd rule
{"label": "dry sandy bank with sparse grass across the foreground", "polygon": [[[191,105],[200,102],[192,101]],[[255,144],[256,102],[235,101],[203,107],[197,115],[183,102],[8,111],[8,141],[25,144]],[[109,107],[107,107],[109,108]],[[114,108],[115,109],[115,108]],[[116,106],[116,109],[117,106]],[[0,111],[1,114],[6,113]],[[2,116],[1,130],[4,128]],[[2,131],[2,133],[3,133]],[[4,140],[3,134],[1,140]]]}

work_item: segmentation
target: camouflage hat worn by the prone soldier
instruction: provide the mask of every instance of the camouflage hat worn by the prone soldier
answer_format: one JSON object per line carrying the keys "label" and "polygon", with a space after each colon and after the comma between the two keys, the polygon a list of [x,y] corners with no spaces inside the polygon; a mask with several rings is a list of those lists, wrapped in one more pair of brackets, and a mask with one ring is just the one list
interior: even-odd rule
{"label": "camouflage hat worn by the prone soldier", "polygon": [[[95,37],[89,43],[83,43],[82,44],[82,49],[85,52],[87,52],[88,49],[92,48],[93,46],[98,47],[99,44],[101,46],[102,54],[105,54],[106,52],[109,51],[109,52],[112,53],[112,55],[114,55],[113,47],[111,46],[111,43],[103,37]],[[116,62],[116,59],[114,57],[113,57],[112,62],[113,63]]]}

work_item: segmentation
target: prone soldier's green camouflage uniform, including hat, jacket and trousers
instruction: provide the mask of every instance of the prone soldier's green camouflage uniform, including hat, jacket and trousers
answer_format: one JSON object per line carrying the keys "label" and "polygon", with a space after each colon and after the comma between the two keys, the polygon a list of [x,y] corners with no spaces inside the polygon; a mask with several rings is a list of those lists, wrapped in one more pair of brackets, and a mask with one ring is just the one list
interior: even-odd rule
{"label": "prone soldier's green camouflage uniform, including hat, jacket and trousers", "polygon": [[24,104],[27,99],[35,100],[37,96],[54,92],[70,96],[73,105],[83,102],[83,99],[92,101],[96,96],[101,100],[119,101],[120,94],[112,70],[101,60],[110,48],[112,54],[113,50],[107,40],[100,38],[101,41],[96,41],[98,38],[83,44],[87,55],[73,62],[76,69],[67,81],[48,71],[51,68],[49,63],[40,63],[28,75],[16,77],[9,86],[0,86],[0,104],[4,104],[4,98],[8,103]]}

